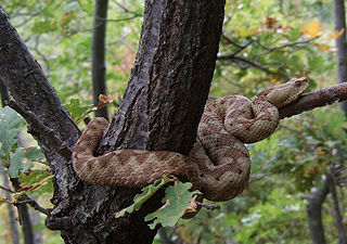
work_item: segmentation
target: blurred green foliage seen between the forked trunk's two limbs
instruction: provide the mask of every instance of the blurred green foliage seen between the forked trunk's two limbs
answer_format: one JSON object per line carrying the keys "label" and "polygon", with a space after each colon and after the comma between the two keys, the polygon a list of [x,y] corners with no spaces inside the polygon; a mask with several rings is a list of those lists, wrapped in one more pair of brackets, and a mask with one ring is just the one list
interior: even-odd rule
{"label": "blurred green foliage seen between the forked trunk's two limbs", "polygon": [[[1,3],[64,103],[70,99],[79,99],[81,105],[92,103],[93,4],[93,0],[5,0]],[[130,76],[142,12],[142,1],[108,2],[106,80],[114,98],[121,95]]]}

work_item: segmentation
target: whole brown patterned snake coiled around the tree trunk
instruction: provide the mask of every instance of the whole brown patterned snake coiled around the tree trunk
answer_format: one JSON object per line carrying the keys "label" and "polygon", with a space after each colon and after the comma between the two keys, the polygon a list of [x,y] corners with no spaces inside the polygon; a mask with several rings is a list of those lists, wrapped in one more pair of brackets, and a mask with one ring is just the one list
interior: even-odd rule
{"label": "whole brown patterned snake coiled around the tree trunk", "polygon": [[77,175],[94,184],[142,188],[167,175],[190,181],[210,201],[228,201],[248,182],[249,153],[244,143],[269,137],[279,125],[278,108],[307,89],[306,77],[261,91],[252,101],[229,95],[208,103],[189,156],[167,151],[117,150],[93,156],[107,128],[104,118],[87,126],[73,153]]}

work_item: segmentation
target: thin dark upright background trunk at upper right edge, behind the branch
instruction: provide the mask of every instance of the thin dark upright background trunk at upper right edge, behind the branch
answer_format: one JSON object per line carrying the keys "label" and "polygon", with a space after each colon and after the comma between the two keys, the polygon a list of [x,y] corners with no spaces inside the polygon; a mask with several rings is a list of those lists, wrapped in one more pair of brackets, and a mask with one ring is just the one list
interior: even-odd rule
{"label": "thin dark upright background trunk at upper right edge, behind the branch", "polygon": [[[334,0],[334,24],[335,30],[345,30],[340,37],[336,38],[337,81],[342,84],[347,81],[346,14],[344,0]],[[338,106],[347,116],[347,102],[340,102]]]}

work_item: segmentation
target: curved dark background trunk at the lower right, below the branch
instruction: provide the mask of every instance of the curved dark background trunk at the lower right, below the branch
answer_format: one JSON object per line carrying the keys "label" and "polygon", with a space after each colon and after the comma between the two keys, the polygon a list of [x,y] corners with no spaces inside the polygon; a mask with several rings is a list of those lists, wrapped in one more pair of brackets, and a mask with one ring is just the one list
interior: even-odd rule
{"label": "curved dark background trunk at the lower right, below the branch", "polygon": [[313,188],[308,196],[306,211],[312,244],[326,244],[322,223],[322,205],[329,193],[329,180],[323,179],[322,189]]}

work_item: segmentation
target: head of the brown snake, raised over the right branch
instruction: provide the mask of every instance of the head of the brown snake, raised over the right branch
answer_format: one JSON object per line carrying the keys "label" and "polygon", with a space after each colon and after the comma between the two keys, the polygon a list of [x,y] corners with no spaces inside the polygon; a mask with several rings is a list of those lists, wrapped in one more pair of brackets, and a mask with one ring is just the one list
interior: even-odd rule
{"label": "head of the brown snake, raised over the right branch", "polygon": [[308,88],[307,77],[293,78],[290,81],[265,90],[262,95],[277,107],[285,106],[297,100]]}

